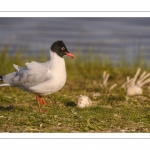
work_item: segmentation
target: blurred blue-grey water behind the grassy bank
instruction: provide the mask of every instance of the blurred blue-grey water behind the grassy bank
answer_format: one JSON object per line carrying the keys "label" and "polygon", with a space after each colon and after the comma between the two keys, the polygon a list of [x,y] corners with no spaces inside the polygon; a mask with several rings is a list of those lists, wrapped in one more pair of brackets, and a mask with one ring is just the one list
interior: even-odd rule
{"label": "blurred blue-grey water behind the grassy bank", "polygon": [[0,52],[20,48],[30,55],[63,40],[71,52],[92,50],[113,61],[124,55],[129,62],[142,54],[150,58],[150,18],[0,18]]}

